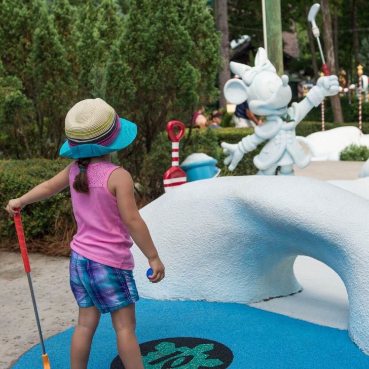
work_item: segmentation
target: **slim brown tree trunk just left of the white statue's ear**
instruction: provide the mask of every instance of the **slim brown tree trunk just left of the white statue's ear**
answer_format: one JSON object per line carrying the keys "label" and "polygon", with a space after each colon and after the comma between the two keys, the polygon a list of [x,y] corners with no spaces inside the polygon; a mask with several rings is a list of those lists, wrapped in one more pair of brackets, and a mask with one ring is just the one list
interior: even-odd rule
{"label": "slim brown tree trunk just left of the white statue's ear", "polygon": [[228,9],[227,0],[215,0],[215,26],[222,37],[220,42],[220,58],[222,58],[222,70],[219,71],[219,90],[220,90],[220,107],[226,108],[226,98],[224,97],[223,88],[226,82],[231,78],[229,67],[229,36],[228,36]]}

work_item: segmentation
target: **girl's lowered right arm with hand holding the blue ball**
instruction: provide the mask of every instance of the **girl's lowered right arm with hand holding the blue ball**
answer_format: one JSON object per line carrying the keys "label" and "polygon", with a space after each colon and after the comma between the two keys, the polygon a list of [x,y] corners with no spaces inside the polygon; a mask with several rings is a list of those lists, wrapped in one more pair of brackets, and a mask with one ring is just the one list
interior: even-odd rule
{"label": "girl's lowered right arm with hand holding the blue ball", "polygon": [[112,189],[113,194],[117,197],[122,220],[133,241],[147,257],[153,269],[151,282],[159,282],[164,278],[164,265],[159,258],[149,229],[147,229],[146,223],[138,212],[131,175],[123,168],[114,170],[108,179],[108,189]]}

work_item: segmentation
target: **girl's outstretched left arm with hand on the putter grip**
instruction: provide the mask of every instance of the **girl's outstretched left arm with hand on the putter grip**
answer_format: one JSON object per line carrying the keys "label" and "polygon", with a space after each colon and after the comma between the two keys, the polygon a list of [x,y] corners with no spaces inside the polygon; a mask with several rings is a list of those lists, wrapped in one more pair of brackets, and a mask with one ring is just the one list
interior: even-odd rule
{"label": "girl's outstretched left arm with hand on the putter grip", "polygon": [[72,164],[73,163],[70,163],[54,177],[40,183],[40,185],[34,187],[23,196],[18,197],[17,199],[9,200],[5,209],[10,215],[14,216],[18,212],[15,209],[22,209],[28,204],[46,199],[47,197],[53,196],[64,190],[67,186],[69,186],[69,170]]}

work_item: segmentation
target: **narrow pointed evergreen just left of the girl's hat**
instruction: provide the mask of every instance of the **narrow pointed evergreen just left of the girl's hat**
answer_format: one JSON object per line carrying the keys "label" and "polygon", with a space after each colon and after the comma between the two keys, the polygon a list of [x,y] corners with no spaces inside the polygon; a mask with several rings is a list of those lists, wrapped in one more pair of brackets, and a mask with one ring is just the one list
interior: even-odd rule
{"label": "narrow pointed evergreen just left of the girl's hat", "polygon": [[64,118],[76,85],[56,28],[41,11],[42,22],[34,31],[29,68],[32,70],[40,155],[56,157],[64,135]]}

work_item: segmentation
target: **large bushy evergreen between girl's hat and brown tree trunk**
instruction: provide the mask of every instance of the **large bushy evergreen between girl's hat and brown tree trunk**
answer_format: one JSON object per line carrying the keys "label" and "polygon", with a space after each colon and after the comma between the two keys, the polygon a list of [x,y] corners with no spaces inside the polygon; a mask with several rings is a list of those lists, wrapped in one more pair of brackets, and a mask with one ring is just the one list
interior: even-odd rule
{"label": "large bushy evergreen between girl's hat and brown tree trunk", "polygon": [[[132,1],[125,32],[113,47],[107,97],[138,124],[146,152],[169,119],[187,121],[200,100],[214,98],[214,88],[205,91],[202,82],[208,72],[206,86],[215,83],[219,40],[214,41],[210,14],[205,24],[198,24],[198,32],[190,31],[190,22],[198,21],[191,16],[199,4],[209,12],[202,0]],[[198,34],[198,45],[206,45],[203,50],[196,48]]]}

